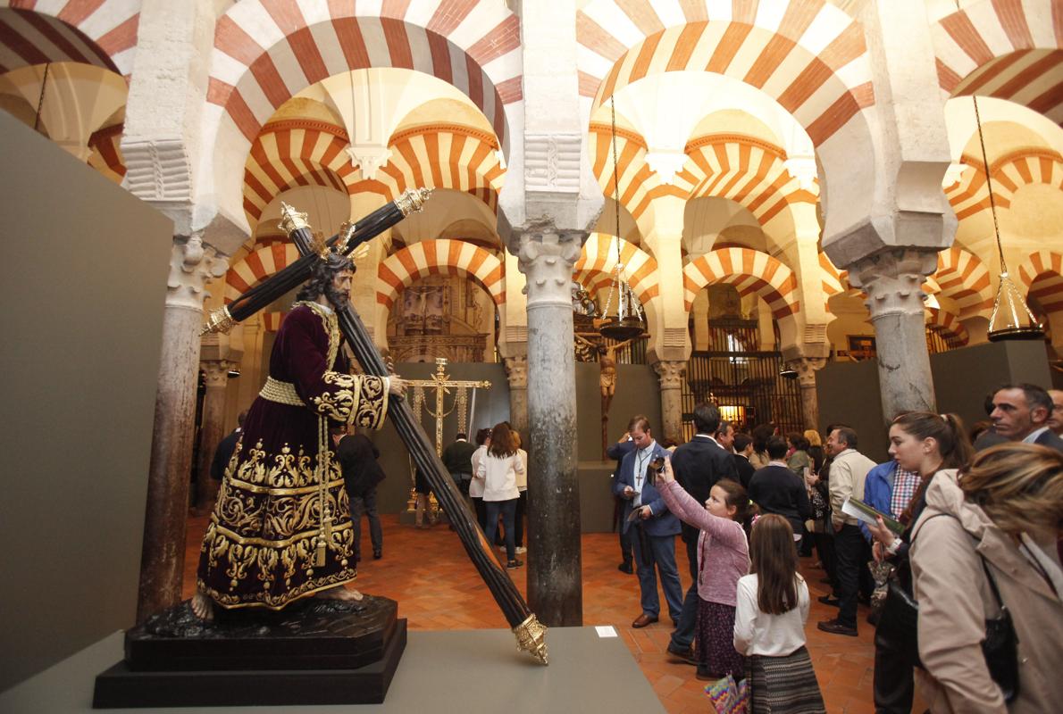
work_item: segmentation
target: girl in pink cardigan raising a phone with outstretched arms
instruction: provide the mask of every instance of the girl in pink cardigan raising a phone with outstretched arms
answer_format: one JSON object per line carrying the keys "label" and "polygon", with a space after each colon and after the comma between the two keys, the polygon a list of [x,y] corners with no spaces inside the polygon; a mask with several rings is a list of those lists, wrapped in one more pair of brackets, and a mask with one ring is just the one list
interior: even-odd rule
{"label": "girl in pink cardigan raising a phone with outstretched arms", "polygon": [[702,529],[697,537],[697,678],[733,675],[739,679],[745,661],[735,649],[731,633],[736,588],[749,570],[749,546],[742,527],[749,514],[749,497],[737,481],[722,479],[703,506],[675,481],[671,459],[664,460],[655,486],[670,511]]}

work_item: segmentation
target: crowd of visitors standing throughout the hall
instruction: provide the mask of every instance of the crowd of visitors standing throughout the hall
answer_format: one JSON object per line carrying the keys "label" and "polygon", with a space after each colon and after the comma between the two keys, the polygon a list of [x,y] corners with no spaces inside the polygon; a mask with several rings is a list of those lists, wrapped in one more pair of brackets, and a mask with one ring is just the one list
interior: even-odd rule
{"label": "crowd of visitors standing throughout the hall", "polygon": [[[875,592],[877,713],[911,712],[916,685],[935,713],[1054,711],[1063,694],[1053,674],[1063,656],[1063,392],[1005,386],[986,413],[976,432],[951,413],[898,414],[877,464],[844,424],[782,436],[699,404],[693,438],[665,447],[646,416],[632,416],[608,449],[619,570],[637,573],[640,588],[631,627],[661,619],[659,580],[674,626],[668,651],[697,679],[745,679],[753,712],[824,712],[798,573],[799,554],[814,548],[810,567],[830,588],[820,600],[838,608],[820,630],[855,636],[858,604]],[[359,474],[348,482],[355,532],[369,515],[379,558],[375,447],[359,435],[337,434],[335,444],[344,474]],[[503,544],[506,566],[522,566],[520,435],[506,422],[479,429],[474,443],[458,435],[443,461],[488,542]],[[676,536],[691,576],[686,594]]]}

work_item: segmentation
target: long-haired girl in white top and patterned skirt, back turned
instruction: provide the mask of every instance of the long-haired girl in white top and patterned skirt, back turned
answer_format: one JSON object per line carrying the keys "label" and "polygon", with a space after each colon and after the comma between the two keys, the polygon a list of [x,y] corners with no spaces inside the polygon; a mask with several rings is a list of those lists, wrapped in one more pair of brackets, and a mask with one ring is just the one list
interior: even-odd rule
{"label": "long-haired girl in white top and patterned skirt, back turned", "polygon": [[805,647],[808,585],[797,573],[794,531],[781,515],[757,520],[749,538],[749,575],[738,581],[735,649],[748,658],[754,714],[824,714]]}

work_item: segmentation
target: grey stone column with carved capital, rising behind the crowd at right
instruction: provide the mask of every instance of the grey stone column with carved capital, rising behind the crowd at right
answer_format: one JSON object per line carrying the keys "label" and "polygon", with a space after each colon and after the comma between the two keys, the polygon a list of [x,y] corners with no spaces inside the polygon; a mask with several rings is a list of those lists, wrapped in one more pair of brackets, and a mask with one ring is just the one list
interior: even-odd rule
{"label": "grey stone column with carved capital, rising behind the crowd at right", "polygon": [[933,249],[884,250],[848,267],[849,282],[867,293],[888,424],[900,411],[937,411],[921,289],[937,268]]}

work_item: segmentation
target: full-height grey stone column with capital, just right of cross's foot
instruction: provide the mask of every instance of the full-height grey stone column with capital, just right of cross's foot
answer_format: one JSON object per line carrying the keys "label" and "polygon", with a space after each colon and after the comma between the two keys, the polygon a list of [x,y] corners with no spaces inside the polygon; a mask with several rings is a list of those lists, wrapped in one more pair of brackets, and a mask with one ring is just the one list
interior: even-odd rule
{"label": "full-height grey stone column with capital, just right of cross's foot", "polygon": [[572,267],[586,234],[520,238],[527,276],[528,572],[532,610],[547,627],[583,625]]}

